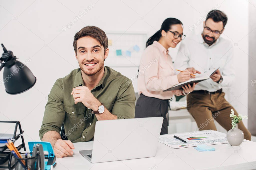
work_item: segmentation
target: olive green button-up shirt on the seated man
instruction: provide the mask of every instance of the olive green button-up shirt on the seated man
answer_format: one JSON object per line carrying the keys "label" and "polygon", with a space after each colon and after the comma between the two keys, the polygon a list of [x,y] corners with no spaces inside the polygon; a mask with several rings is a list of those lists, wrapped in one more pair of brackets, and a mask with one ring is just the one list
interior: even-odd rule
{"label": "olive green button-up shirt on the seated man", "polygon": [[[41,140],[48,131],[60,133],[63,123],[68,140],[72,142],[93,140],[97,118],[92,115],[91,109],[81,102],[74,103],[71,92],[72,88],[77,86],[84,86],[80,68],[56,80],[45,106],[39,131]],[[91,92],[113,115],[117,116],[117,119],[134,118],[136,98],[132,81],[119,72],[105,66],[104,76]]]}

